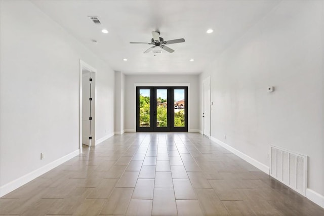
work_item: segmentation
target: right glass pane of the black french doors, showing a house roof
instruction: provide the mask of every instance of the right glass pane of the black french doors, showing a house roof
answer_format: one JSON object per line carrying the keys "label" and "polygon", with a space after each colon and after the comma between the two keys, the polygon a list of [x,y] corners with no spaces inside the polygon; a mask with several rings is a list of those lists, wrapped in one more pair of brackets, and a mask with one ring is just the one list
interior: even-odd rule
{"label": "right glass pane of the black french doors, showing a house roof", "polygon": [[174,127],[185,126],[185,90],[174,90]]}

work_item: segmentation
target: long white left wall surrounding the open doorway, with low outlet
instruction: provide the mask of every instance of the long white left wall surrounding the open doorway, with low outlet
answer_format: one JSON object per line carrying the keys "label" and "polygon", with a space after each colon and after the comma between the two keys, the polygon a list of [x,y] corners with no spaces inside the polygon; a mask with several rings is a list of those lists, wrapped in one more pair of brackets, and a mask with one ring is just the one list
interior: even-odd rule
{"label": "long white left wall surrounding the open doorway, with low outlet", "polygon": [[96,137],[113,133],[114,72],[29,1],[2,0],[0,7],[4,195],[42,167],[78,151],[79,59],[97,69]]}

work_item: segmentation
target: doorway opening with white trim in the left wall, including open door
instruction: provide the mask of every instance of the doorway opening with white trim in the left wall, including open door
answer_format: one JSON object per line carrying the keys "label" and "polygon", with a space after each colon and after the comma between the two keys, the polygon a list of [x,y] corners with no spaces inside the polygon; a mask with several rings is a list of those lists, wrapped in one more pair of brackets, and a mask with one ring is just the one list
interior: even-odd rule
{"label": "doorway opening with white trim in the left wall, including open door", "polygon": [[95,145],[96,69],[80,60],[79,149]]}

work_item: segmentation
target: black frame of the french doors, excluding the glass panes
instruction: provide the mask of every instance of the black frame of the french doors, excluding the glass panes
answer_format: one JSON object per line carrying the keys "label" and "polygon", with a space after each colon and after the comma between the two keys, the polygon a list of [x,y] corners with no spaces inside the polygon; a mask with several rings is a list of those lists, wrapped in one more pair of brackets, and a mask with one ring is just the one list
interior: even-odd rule
{"label": "black frame of the french doors, excluding the glass panes", "polygon": [[[141,89],[150,90],[150,126],[149,127],[140,127],[139,122],[139,96]],[[167,106],[167,126],[166,127],[157,127],[156,126],[156,90],[158,89],[167,89],[168,91],[168,102],[172,103],[172,106]],[[174,90],[184,89],[185,95],[185,126],[184,127],[175,127],[174,126]],[[173,94],[172,94],[173,93]],[[140,86],[136,87],[136,131],[137,132],[188,132],[188,87],[145,87]]]}

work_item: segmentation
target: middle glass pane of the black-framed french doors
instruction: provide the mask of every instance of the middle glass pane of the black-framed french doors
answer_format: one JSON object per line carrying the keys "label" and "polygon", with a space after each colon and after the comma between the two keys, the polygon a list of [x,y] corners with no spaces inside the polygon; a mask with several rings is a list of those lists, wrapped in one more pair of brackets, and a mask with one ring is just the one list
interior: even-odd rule
{"label": "middle glass pane of the black-framed french doors", "polygon": [[168,90],[156,90],[156,127],[168,126]]}

